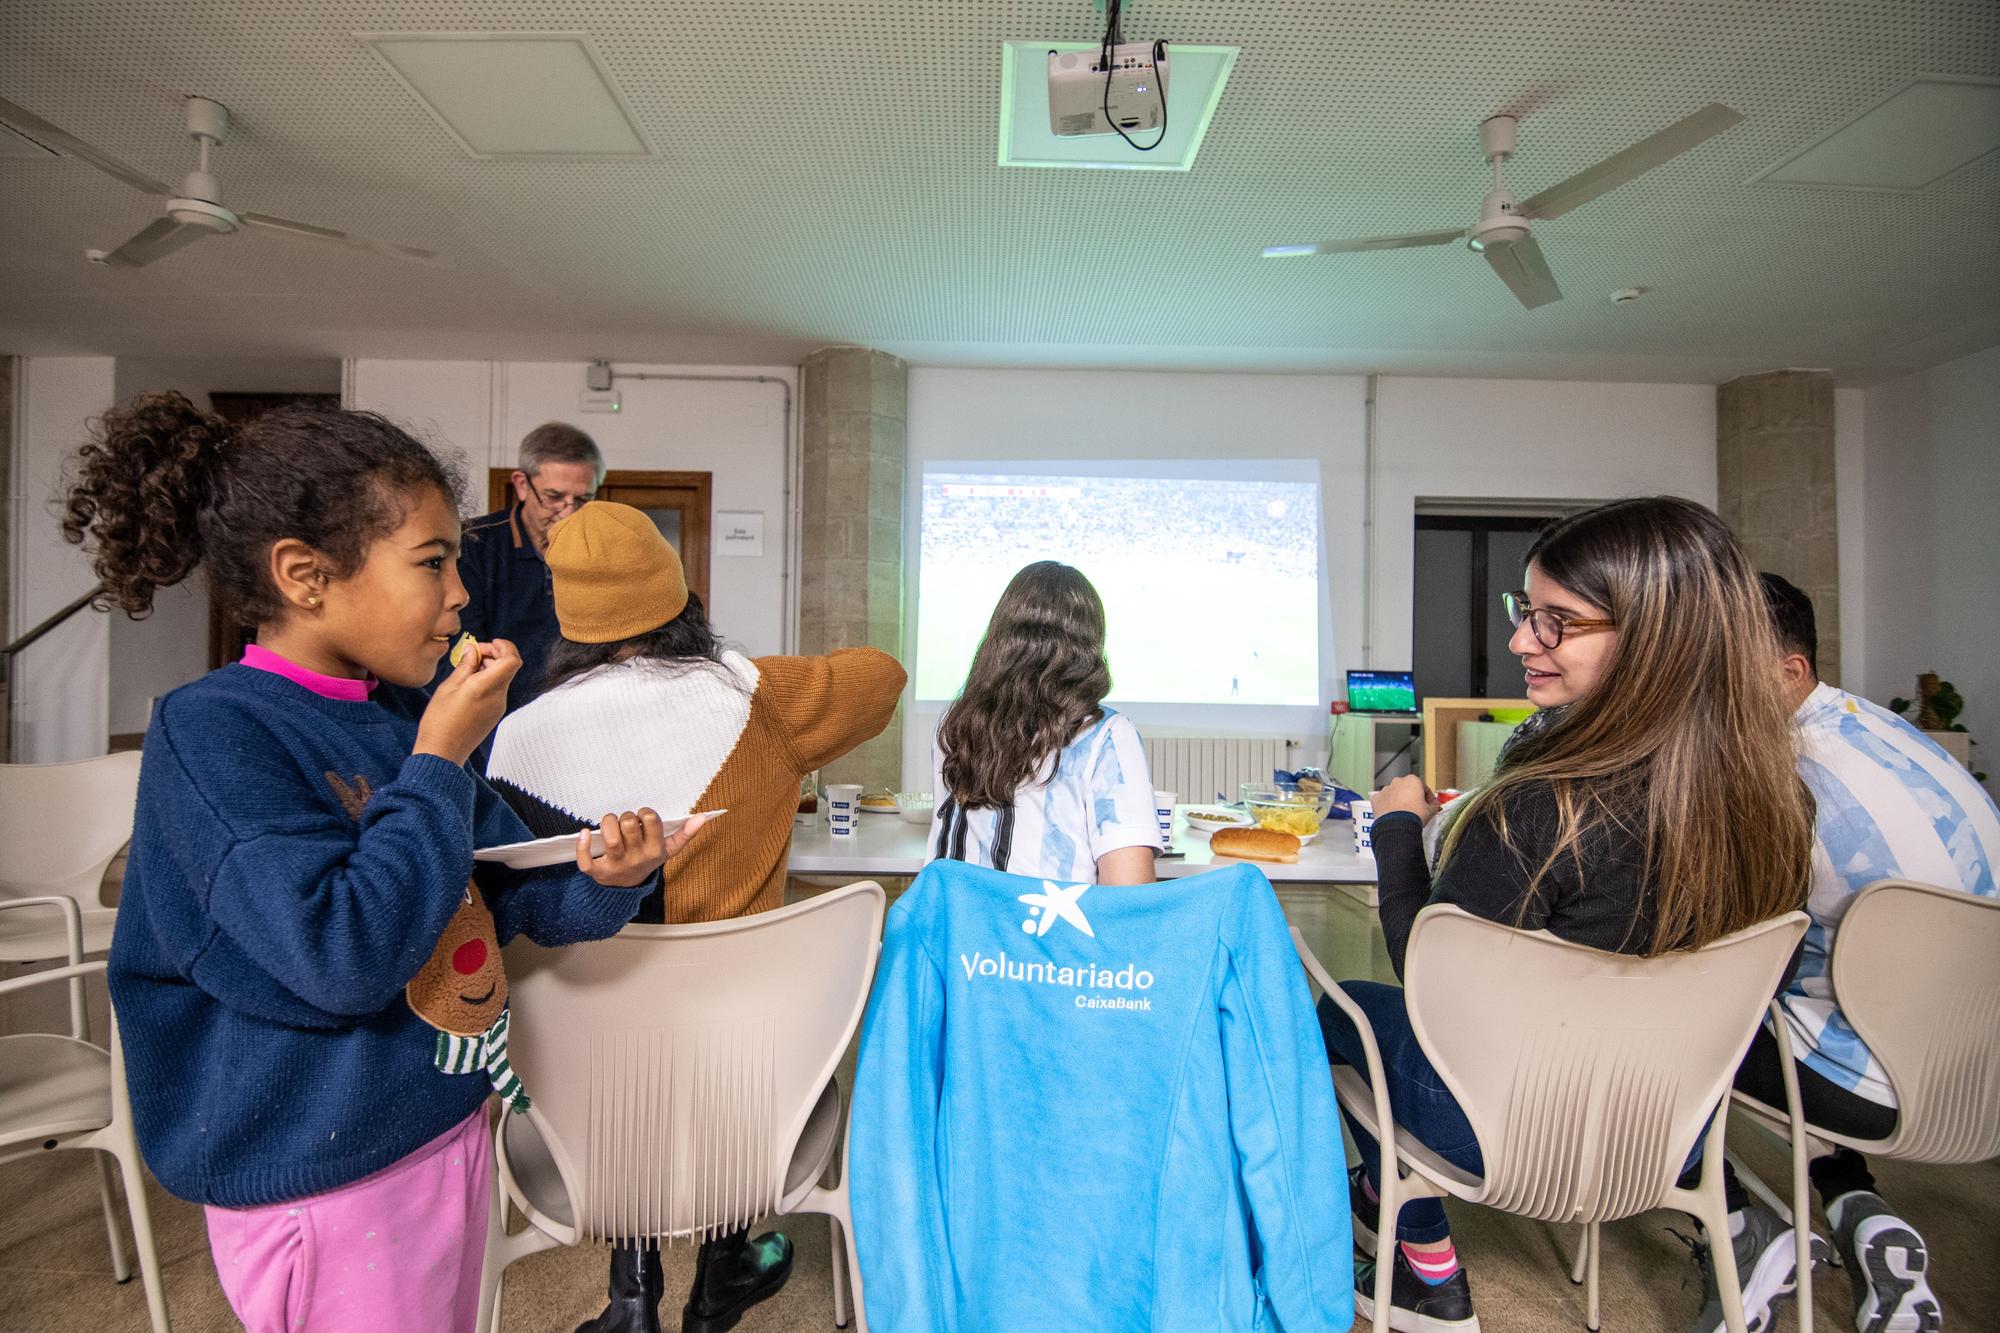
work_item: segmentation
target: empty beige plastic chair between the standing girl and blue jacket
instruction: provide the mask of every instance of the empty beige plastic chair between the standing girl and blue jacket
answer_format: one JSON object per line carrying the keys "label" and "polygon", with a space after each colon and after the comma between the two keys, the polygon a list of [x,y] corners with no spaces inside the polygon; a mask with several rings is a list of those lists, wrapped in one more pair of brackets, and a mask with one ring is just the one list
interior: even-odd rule
{"label": "empty beige plastic chair between the standing girl and blue jacket", "polygon": [[[866,1333],[834,1069],[868,1003],[884,903],[880,885],[860,883],[736,921],[508,947],[508,1057],[532,1105],[502,1115],[494,1139],[504,1201],[496,1193],[488,1227],[482,1331],[500,1329],[506,1267],[536,1251],[698,1241],[772,1213],[824,1213],[834,1323],[852,1311]],[[528,1219],[516,1235],[506,1203]]]}

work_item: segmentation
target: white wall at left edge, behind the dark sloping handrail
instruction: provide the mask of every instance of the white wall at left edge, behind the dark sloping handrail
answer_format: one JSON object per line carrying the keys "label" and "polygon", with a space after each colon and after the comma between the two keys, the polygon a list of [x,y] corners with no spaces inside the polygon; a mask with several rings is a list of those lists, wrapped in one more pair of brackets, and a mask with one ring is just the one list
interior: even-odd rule
{"label": "white wall at left edge, behind the dark sloping handrail", "polygon": [[[60,610],[96,582],[82,550],[62,540],[50,502],[88,420],[112,406],[108,356],[22,356],[14,362],[14,456],[8,492],[12,596],[6,638]],[[64,763],[106,751],[110,618],[78,612],[14,664],[14,759]]]}

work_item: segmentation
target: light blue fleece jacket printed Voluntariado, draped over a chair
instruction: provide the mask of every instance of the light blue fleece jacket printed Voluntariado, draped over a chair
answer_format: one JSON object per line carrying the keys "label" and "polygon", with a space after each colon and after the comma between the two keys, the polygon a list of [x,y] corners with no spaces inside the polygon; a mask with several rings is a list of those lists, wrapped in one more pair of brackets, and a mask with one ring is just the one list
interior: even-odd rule
{"label": "light blue fleece jacket printed Voluntariado, draped over a chair", "polygon": [[876,1333],[1354,1319],[1326,1047],[1254,867],[926,867],[888,915],[850,1151]]}

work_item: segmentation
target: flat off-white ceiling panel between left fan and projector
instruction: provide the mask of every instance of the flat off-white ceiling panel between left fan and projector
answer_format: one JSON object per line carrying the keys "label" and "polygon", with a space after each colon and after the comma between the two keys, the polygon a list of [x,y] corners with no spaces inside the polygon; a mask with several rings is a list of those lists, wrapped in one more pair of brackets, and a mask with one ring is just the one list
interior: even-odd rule
{"label": "flat off-white ceiling panel between left fan and projector", "polygon": [[582,32],[356,32],[474,158],[644,158]]}

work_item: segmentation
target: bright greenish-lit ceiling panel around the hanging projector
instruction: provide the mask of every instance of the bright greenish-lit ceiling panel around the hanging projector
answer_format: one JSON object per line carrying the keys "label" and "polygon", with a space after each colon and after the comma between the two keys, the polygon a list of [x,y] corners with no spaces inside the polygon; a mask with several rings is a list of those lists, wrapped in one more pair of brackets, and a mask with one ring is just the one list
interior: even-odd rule
{"label": "bright greenish-lit ceiling panel around the hanging projector", "polygon": [[[1000,166],[1080,166],[1130,172],[1184,172],[1194,166],[1236,46],[1166,44],[1166,136],[1150,152],[1116,134],[1058,136],[1048,128],[1050,52],[1096,52],[1098,42],[1004,42],[1000,46]],[[1136,136],[1140,144],[1156,130]]]}

